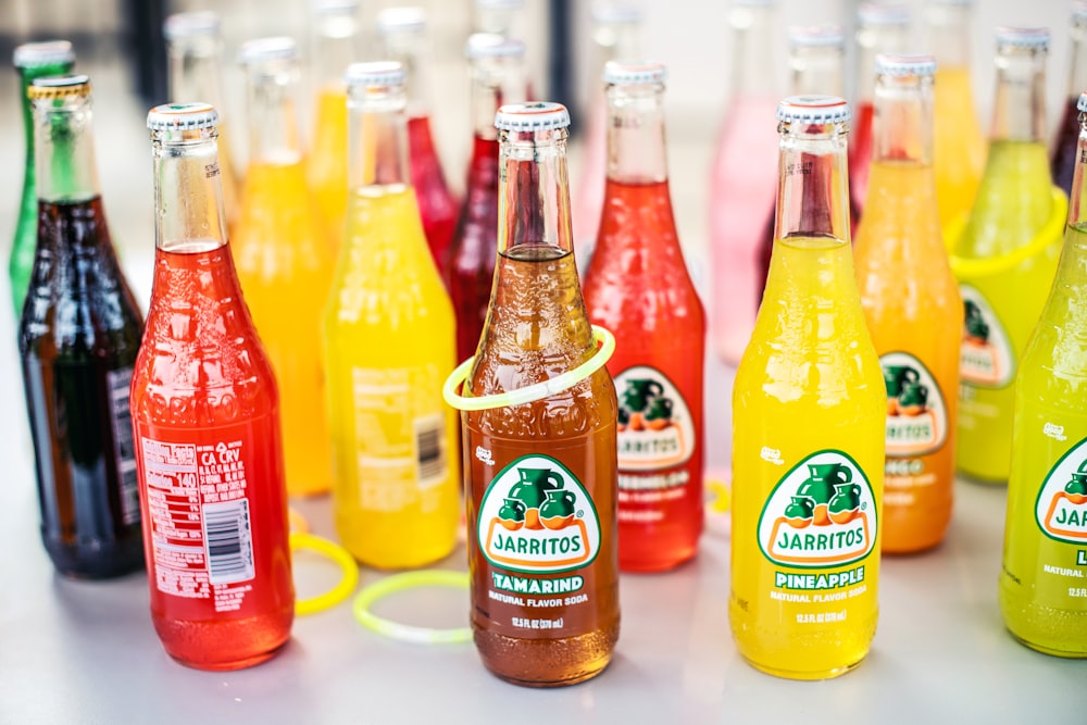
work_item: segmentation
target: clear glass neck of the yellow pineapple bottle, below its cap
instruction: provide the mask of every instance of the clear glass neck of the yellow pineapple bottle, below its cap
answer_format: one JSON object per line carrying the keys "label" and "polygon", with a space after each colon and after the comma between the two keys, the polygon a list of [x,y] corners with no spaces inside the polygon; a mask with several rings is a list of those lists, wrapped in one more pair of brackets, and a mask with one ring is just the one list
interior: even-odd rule
{"label": "clear glass neck of the yellow pineapple bottle, below its cap", "polygon": [[849,241],[845,124],[780,124],[774,238]]}

